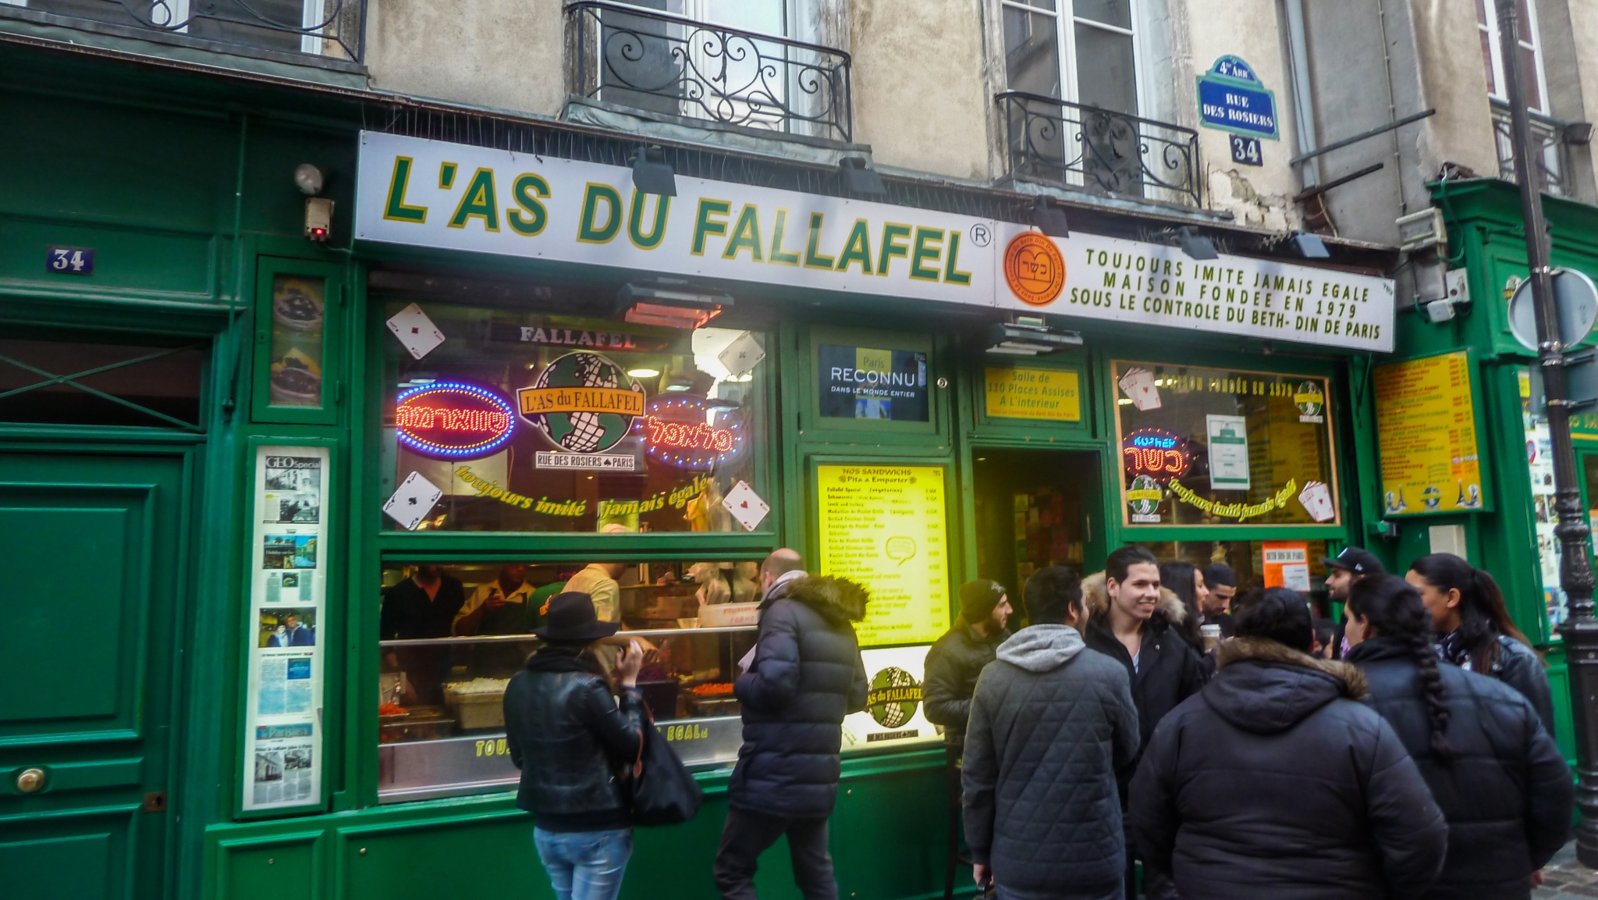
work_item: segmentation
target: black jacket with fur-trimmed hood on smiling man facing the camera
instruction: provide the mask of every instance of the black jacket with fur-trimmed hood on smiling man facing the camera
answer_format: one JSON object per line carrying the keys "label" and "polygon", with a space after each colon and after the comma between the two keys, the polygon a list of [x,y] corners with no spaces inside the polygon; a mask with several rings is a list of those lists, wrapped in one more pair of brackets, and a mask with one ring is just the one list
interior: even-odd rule
{"label": "black jacket with fur-trimmed hood on smiling man facing the camera", "polygon": [[1082,596],[1088,606],[1088,627],[1082,638],[1088,647],[1109,655],[1127,668],[1127,675],[1131,676],[1131,699],[1138,703],[1138,723],[1143,729],[1141,743],[1147,743],[1154,726],[1160,724],[1165,713],[1192,697],[1205,683],[1198,654],[1178,630],[1187,617],[1187,607],[1175,593],[1160,590],[1160,603],[1147,625],[1143,627],[1143,646],[1138,649],[1135,668],[1131,654],[1109,627],[1109,593],[1104,587],[1104,572],[1082,579]]}

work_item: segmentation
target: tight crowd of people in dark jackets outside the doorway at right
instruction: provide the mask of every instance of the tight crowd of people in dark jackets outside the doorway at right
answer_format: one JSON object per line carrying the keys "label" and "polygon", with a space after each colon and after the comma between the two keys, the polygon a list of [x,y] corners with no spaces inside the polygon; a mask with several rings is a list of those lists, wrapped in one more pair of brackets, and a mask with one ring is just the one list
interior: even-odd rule
{"label": "tight crowd of people in dark jackets outside the doorway at right", "polygon": [[975,881],[1111,900],[1141,860],[1154,898],[1529,897],[1574,783],[1496,582],[1446,553],[1401,579],[1358,548],[1325,563],[1338,628],[1143,547],[1037,571],[1015,633],[967,612],[928,654],[927,713]]}

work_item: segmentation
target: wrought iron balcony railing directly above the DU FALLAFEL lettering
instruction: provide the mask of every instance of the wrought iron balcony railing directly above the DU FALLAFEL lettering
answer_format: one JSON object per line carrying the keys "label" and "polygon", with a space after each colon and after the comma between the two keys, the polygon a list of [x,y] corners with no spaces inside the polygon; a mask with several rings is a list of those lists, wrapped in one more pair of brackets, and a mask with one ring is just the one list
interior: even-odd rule
{"label": "wrought iron balcony railing directly above the DU FALLAFEL lettering", "polygon": [[566,5],[570,90],[636,110],[850,141],[841,50],[625,3]]}

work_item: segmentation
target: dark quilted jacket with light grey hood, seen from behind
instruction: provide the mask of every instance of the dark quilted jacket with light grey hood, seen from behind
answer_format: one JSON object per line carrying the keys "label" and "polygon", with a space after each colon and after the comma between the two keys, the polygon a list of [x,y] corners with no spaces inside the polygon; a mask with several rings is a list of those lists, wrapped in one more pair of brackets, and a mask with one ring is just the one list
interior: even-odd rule
{"label": "dark quilted jacket with light grey hood, seen from behind", "polygon": [[972,697],[962,771],[972,860],[1018,900],[1119,897],[1115,772],[1136,751],[1127,671],[1075,628],[1021,628]]}

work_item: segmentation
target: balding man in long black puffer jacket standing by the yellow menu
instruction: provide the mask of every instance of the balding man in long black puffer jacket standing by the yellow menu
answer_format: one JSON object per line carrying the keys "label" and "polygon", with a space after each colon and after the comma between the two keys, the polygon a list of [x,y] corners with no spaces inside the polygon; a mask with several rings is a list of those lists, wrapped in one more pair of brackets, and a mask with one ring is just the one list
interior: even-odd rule
{"label": "balding man in long black puffer jacket standing by the yellow menu", "polygon": [[836,900],[826,817],[837,798],[844,716],[866,708],[866,667],[852,622],[866,591],[844,579],[812,579],[793,550],[761,564],[761,630],[733,691],[743,747],[727,785],[727,825],[716,850],[716,887],[754,898],[761,852],[788,836],[794,882],[805,900]]}

